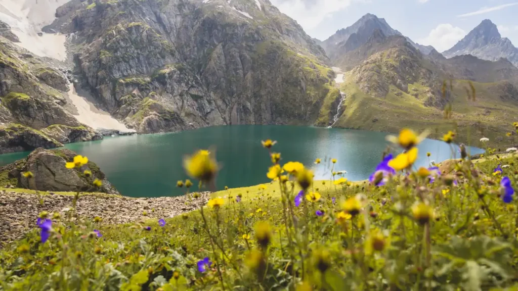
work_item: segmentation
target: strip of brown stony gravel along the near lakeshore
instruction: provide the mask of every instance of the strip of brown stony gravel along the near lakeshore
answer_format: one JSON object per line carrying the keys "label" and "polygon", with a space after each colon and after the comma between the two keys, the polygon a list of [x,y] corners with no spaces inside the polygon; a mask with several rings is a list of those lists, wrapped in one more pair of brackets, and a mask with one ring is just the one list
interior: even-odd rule
{"label": "strip of brown stony gravel along the near lakeshore", "polygon": [[[99,216],[104,224],[132,223],[138,220],[161,219],[193,211],[205,205],[210,192],[190,201],[188,196],[131,198],[109,194],[85,194],[77,203],[79,216],[93,219]],[[73,195],[43,192],[41,200],[33,193],[0,191],[0,248],[6,243],[20,239],[25,232],[36,227],[41,211],[60,212],[62,216],[70,207]]]}

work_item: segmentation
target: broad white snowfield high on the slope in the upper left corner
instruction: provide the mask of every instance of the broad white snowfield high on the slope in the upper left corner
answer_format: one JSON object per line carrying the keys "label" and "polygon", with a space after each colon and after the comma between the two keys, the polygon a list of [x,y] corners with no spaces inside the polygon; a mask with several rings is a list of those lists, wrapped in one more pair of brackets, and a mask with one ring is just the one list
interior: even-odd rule
{"label": "broad white snowfield high on the slope in the upper left corner", "polygon": [[65,40],[61,34],[43,34],[41,28],[55,19],[56,8],[69,0],[1,0],[0,20],[9,24],[20,42],[16,45],[38,56],[66,59]]}

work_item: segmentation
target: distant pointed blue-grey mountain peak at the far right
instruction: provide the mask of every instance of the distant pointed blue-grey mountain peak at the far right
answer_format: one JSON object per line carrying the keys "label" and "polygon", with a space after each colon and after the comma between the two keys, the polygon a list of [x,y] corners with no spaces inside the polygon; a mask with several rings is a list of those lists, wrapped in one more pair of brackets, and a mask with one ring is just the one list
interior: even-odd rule
{"label": "distant pointed blue-grey mountain peak at the far right", "polygon": [[483,20],[451,49],[442,53],[446,57],[471,54],[483,60],[497,61],[501,57],[518,66],[518,49],[506,37],[501,37],[491,20]]}

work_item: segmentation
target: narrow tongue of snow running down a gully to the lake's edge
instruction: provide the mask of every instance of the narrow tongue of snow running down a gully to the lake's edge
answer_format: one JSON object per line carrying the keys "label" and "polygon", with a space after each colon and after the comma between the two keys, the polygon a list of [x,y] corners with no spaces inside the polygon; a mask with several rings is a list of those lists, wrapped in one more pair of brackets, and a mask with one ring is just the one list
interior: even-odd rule
{"label": "narrow tongue of snow running down a gully to the lake's edge", "polygon": [[68,86],[68,97],[72,104],[77,108],[74,117],[77,121],[84,123],[92,128],[116,129],[120,132],[135,132],[134,129],[127,128],[124,124],[111,117],[108,112],[97,109],[87,98],[77,94],[74,84]]}

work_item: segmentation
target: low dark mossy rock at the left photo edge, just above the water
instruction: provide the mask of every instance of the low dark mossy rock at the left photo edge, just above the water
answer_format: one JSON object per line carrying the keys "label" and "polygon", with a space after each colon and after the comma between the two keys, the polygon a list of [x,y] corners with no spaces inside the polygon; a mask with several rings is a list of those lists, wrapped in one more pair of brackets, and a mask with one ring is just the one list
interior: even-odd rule
{"label": "low dark mossy rock at the left photo edge, just above the water", "polygon": [[62,147],[59,141],[19,124],[0,127],[0,154]]}

